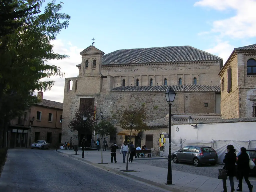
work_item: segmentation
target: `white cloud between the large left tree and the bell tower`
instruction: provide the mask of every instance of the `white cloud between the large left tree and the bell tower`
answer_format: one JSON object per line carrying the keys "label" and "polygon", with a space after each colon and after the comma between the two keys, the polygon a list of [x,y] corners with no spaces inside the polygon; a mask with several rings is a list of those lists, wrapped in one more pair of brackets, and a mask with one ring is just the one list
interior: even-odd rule
{"label": "white cloud between the large left tree and the bell tower", "polygon": [[[53,51],[55,53],[65,54],[70,58],[63,60],[48,60],[48,64],[60,67],[61,71],[66,74],[65,77],[76,77],[78,75],[78,68],[76,65],[81,63],[81,55],[79,53],[83,49],[73,46],[71,42],[65,42],[61,39],[54,40],[52,44],[54,45]],[[55,81],[52,89],[44,92],[44,99],[63,102],[65,77],[50,77],[42,79],[42,81]]]}

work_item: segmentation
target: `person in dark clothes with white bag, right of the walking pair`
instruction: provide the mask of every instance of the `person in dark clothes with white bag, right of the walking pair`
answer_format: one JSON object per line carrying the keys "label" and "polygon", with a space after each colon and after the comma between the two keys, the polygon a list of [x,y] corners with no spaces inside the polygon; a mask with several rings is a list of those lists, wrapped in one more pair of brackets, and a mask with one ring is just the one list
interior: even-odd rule
{"label": "person in dark clothes with white bag, right of the walking pair", "polygon": [[242,191],[242,183],[243,177],[245,182],[248,185],[249,191],[252,192],[252,185],[249,181],[249,173],[250,173],[250,166],[249,166],[250,157],[246,153],[246,149],[241,147],[241,154],[238,155],[237,159],[237,170],[238,170],[238,178],[239,178],[239,189],[237,191]]}

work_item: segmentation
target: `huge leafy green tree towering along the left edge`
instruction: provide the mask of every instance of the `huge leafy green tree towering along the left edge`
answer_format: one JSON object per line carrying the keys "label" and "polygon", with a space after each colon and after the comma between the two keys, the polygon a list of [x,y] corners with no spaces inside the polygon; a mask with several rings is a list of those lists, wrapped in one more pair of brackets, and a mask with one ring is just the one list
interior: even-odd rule
{"label": "huge leafy green tree towering along the left edge", "polygon": [[[59,13],[62,3],[44,0],[0,0],[0,144],[4,124],[37,102],[35,90],[50,90],[54,81],[42,78],[65,75],[50,59],[65,59],[53,51],[51,41],[68,27],[70,16]],[[13,98],[17,98],[13,105]],[[21,98],[21,99],[18,99]],[[0,145],[1,146],[1,145]]]}

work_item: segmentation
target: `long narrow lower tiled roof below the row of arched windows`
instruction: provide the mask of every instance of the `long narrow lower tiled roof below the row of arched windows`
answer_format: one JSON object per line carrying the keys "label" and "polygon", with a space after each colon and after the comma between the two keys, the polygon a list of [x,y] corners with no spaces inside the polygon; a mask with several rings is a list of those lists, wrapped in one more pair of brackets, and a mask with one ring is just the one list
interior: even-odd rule
{"label": "long narrow lower tiled roof below the row of arched windows", "polygon": [[175,92],[220,92],[218,85],[156,85],[156,86],[120,86],[110,91],[164,92],[169,87]]}

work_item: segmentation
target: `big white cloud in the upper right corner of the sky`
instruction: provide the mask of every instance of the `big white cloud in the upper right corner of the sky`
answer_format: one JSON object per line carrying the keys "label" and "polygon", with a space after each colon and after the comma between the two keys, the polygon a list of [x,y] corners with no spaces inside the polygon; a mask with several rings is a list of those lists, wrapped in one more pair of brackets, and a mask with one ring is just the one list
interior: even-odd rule
{"label": "big white cloud in the upper right corner of the sky", "polygon": [[219,33],[220,37],[243,39],[256,37],[256,0],[201,0],[194,6],[209,7],[224,11],[233,9],[236,15],[230,18],[214,21],[212,33]]}

